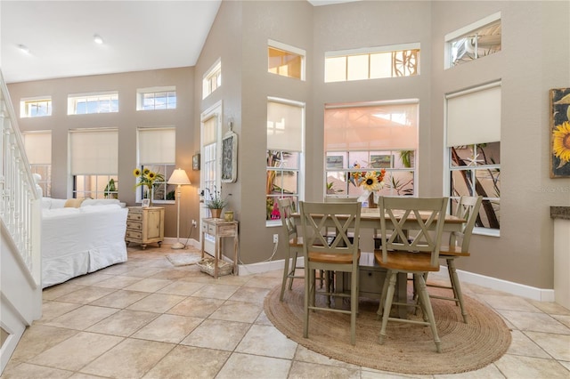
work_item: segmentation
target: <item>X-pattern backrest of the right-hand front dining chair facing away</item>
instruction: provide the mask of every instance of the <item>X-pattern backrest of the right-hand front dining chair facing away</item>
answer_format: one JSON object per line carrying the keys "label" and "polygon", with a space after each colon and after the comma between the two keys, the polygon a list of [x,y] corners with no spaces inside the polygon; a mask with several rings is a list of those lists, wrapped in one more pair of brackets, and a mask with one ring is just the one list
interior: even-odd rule
{"label": "X-pattern backrest of the right-hand front dining chair facing away", "polygon": [[382,260],[388,251],[431,254],[439,266],[439,246],[448,198],[379,198]]}

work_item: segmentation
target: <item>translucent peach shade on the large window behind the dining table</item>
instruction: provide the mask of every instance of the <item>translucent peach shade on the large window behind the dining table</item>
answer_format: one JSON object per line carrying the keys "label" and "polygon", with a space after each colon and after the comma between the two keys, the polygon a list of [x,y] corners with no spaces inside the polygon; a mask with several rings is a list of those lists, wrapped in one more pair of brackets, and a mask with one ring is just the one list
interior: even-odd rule
{"label": "translucent peach shade on the large window behind the dining table", "polygon": [[325,151],[418,149],[418,103],[330,106]]}

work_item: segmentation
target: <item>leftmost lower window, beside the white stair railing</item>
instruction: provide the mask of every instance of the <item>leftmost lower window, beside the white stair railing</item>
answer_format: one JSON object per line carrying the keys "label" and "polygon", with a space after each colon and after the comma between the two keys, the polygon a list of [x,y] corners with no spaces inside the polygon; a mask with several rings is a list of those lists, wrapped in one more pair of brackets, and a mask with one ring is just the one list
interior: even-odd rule
{"label": "leftmost lower window, beside the white stair railing", "polygon": [[43,196],[52,196],[52,132],[24,132],[24,149],[32,173],[38,173],[42,179],[37,184],[42,188]]}

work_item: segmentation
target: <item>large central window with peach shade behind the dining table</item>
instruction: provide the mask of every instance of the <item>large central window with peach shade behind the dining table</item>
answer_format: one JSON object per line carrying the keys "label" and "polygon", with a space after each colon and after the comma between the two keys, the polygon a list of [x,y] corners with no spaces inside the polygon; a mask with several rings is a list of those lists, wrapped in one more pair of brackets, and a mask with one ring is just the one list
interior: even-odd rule
{"label": "large central window with peach shade behind the dining table", "polygon": [[386,170],[384,196],[413,196],[418,102],[328,105],[324,114],[325,196],[358,198],[354,173]]}

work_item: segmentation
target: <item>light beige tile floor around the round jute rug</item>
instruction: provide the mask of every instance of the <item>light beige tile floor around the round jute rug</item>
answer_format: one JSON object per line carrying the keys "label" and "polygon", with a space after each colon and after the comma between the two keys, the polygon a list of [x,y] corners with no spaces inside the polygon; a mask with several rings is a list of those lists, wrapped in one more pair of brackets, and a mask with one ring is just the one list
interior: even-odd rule
{"label": "light beige tile floor around the round jute rug", "polygon": [[[46,288],[43,317],[28,327],[2,378],[413,377],[328,359],[290,341],[263,310],[281,271],[215,280],[166,259],[192,250],[132,246],[128,262]],[[570,310],[464,287],[512,329],[508,353],[477,371],[416,377],[570,378]]]}

